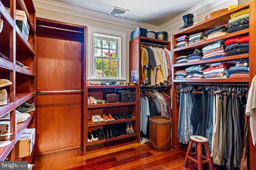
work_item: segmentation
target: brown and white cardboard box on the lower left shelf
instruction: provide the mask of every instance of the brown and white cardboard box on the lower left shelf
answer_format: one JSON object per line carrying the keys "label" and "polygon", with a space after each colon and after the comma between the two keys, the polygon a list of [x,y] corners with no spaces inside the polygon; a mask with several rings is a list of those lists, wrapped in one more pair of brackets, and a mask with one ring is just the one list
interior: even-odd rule
{"label": "brown and white cardboard box on the lower left shelf", "polygon": [[35,143],[36,129],[24,129],[15,145],[15,158],[31,156]]}

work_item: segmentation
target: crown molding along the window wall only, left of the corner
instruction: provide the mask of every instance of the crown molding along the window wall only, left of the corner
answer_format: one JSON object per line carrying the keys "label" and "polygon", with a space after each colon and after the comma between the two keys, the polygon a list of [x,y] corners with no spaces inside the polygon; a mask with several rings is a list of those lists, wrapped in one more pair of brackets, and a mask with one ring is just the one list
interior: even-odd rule
{"label": "crown molding along the window wall only, left of the corner", "polygon": [[90,20],[97,20],[97,21],[102,21],[106,23],[112,23],[112,24],[121,25],[124,27],[131,27],[131,28],[143,27],[153,31],[158,30],[158,26],[156,25],[128,20],[125,18],[109,16],[107,14],[102,14],[100,12],[87,10],[87,9],[76,7],[76,6],[71,6],[68,4],[60,3],[60,2],[54,2],[52,0],[33,0],[33,2],[36,8],[41,8],[44,10],[60,12],[63,14],[78,16],[78,17],[87,18]]}

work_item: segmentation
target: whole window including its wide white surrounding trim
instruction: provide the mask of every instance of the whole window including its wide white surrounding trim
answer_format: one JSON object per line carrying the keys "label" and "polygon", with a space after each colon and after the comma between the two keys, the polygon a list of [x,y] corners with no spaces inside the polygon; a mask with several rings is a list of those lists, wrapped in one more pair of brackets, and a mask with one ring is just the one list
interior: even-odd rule
{"label": "whole window including its wide white surrounding trim", "polygon": [[87,80],[125,80],[125,33],[89,27]]}

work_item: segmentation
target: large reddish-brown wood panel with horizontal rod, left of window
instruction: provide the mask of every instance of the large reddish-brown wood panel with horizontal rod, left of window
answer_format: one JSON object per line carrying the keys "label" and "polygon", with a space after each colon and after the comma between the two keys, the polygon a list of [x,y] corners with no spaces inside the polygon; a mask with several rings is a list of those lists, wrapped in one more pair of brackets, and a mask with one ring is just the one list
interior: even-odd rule
{"label": "large reddish-brown wood panel with horizontal rod, left of window", "polygon": [[65,31],[36,31],[36,153],[78,147],[83,42]]}

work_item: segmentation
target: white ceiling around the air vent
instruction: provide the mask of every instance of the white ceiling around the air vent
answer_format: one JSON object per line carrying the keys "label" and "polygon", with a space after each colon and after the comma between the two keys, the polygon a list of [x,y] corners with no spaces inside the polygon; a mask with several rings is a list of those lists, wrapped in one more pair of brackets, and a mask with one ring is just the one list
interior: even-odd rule
{"label": "white ceiling around the air vent", "polygon": [[[113,7],[129,10],[123,18],[160,26],[207,0],[36,0],[57,2],[96,13],[109,14]],[[117,19],[118,20],[118,19]]]}

